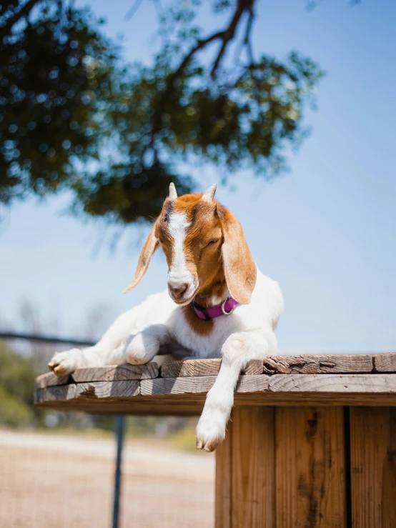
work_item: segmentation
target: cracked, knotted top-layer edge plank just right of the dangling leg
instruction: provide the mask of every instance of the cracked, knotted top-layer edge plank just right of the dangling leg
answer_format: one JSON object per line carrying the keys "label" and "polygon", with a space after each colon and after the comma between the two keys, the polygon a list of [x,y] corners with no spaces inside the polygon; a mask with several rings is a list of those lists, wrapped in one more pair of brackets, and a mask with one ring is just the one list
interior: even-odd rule
{"label": "cracked, knotted top-layer edge plank just right of the dangling leg", "polygon": [[264,358],[267,374],[347,374],[372,372],[368,354],[315,354],[300,356],[268,356]]}

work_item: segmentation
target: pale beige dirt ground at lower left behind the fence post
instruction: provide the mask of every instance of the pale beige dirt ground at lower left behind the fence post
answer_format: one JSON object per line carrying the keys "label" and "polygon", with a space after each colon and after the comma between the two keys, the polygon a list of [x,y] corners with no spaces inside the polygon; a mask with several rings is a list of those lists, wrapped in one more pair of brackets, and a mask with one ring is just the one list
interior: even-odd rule
{"label": "pale beige dirt ground at lower left behind the fence post", "polygon": [[[115,442],[0,430],[1,528],[112,526]],[[214,457],[127,442],[122,528],[213,526]]]}

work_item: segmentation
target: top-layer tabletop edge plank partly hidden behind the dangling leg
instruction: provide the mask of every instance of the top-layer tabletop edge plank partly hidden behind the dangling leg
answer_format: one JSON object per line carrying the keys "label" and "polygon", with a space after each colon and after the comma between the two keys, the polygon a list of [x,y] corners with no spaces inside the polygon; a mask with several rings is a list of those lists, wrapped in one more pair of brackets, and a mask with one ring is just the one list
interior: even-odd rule
{"label": "top-layer tabletop edge plank partly hidden behind the dangling leg", "polygon": [[[219,374],[221,359],[186,359],[164,363],[161,367],[163,378],[217,376]],[[262,374],[262,359],[256,358],[249,361],[242,374]]]}

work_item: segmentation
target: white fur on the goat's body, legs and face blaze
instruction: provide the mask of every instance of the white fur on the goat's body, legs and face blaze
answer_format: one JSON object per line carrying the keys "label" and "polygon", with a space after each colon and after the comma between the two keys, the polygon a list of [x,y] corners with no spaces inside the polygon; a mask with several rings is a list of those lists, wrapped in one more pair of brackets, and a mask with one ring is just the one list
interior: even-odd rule
{"label": "white fur on the goat's body, legs and face blaze", "polygon": [[[174,226],[179,226],[182,232],[181,216],[177,218],[179,224],[175,221]],[[180,247],[182,236],[177,234],[176,227],[173,229],[172,236]],[[182,270],[182,260],[179,266]],[[197,446],[214,449],[224,439],[241,369],[249,359],[277,351],[274,329],[282,311],[279,285],[257,270],[250,304],[213,319],[213,331],[207,336],[192,332],[182,308],[172,302],[165,290],[119,316],[94,347],[57,352],[52,361],[64,371],[72,372],[79,367],[147,363],[159,349],[167,348],[173,352],[177,349],[180,357],[222,357],[217,380],[207,394],[197,426]]]}

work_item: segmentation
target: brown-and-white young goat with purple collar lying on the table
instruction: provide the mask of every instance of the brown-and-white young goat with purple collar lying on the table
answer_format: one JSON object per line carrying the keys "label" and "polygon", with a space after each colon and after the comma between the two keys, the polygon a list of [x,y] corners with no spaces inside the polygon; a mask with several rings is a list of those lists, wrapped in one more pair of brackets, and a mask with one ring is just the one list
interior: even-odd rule
{"label": "brown-and-white young goat with purple collar lying on the table", "polygon": [[241,370],[254,357],[276,353],[274,329],[283,310],[279,285],[259,272],[241,224],[215,191],[213,184],[204,194],[178,197],[170,184],[124,290],[137,287],[161,246],[169,295],[154,294],[122,314],[94,347],[56,352],[49,362],[64,375],[79,367],[144,364],[167,347],[189,359],[222,357],[197,425],[197,449],[208,452],[224,439]]}

